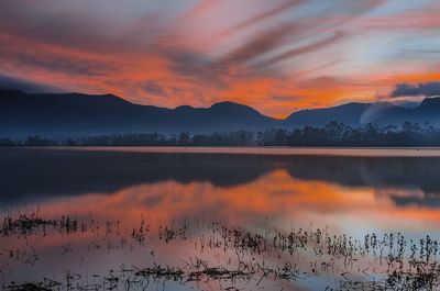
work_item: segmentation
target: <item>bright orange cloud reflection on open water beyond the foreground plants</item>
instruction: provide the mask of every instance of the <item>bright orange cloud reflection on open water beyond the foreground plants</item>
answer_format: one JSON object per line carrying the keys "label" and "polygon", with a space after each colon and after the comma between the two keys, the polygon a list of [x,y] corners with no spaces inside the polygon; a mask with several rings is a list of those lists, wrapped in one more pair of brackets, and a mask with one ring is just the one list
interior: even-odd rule
{"label": "bright orange cloud reflection on open water beyond the foreground plants", "polygon": [[[307,226],[312,222],[339,228],[345,226],[342,220],[355,220],[378,228],[405,228],[440,220],[440,211],[435,208],[422,203],[399,203],[405,199],[424,198],[424,193],[415,189],[376,189],[298,180],[286,170],[277,169],[235,187],[163,181],[128,187],[111,194],[70,197],[43,203],[41,208],[50,213],[64,210],[79,215],[92,213],[101,219],[125,221],[128,225],[138,223],[143,216],[175,222],[202,217],[261,226],[267,217],[280,227],[288,227],[289,222],[293,226]],[[72,205],[82,206],[73,209]]]}

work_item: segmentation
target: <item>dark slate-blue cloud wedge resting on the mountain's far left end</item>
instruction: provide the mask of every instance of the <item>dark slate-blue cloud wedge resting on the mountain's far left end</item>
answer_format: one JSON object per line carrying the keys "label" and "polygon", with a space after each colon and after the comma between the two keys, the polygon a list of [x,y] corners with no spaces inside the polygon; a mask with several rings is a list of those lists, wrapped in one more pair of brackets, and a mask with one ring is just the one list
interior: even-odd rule
{"label": "dark slate-blue cloud wedge resting on the mountain's far left end", "polygon": [[11,76],[0,75],[0,89],[6,90],[20,90],[28,93],[46,93],[46,92],[62,92],[63,90],[47,86],[44,83],[37,83],[21,78]]}

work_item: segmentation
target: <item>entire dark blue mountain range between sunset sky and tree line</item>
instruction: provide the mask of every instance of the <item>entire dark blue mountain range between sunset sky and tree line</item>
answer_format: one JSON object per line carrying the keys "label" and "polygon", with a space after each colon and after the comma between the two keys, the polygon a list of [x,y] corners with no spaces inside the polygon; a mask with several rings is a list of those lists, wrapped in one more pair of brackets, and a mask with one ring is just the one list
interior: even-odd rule
{"label": "entire dark blue mountain range between sunset sky and tree line", "polygon": [[286,119],[263,115],[251,107],[220,102],[210,108],[175,109],[140,105],[113,94],[25,93],[0,90],[0,136],[65,137],[123,132],[212,133],[323,126],[337,121],[351,126],[367,123],[402,125],[405,121],[440,125],[440,98],[427,98],[416,108],[387,102],[346,103],[300,110]]}

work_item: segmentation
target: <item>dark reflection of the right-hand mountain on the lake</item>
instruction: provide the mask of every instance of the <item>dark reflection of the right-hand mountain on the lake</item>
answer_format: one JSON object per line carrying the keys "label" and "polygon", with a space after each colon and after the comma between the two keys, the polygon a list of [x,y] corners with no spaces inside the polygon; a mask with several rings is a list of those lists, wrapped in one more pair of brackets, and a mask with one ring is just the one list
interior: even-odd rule
{"label": "dark reflection of the right-hand mountain on the lake", "polygon": [[440,159],[432,157],[296,157],[287,165],[295,178],[343,186],[378,188],[417,186],[440,193]]}

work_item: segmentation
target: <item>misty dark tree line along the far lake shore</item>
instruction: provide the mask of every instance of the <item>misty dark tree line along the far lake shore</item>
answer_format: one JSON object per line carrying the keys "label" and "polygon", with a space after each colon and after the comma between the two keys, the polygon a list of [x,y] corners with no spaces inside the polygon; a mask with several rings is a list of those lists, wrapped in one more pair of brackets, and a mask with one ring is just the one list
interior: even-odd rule
{"label": "misty dark tree line along the far lake shore", "polygon": [[363,127],[330,122],[321,127],[305,126],[293,131],[184,132],[177,135],[122,133],[65,139],[35,135],[24,139],[0,138],[0,146],[440,146],[440,128],[411,122],[405,122],[402,126],[366,124]]}

